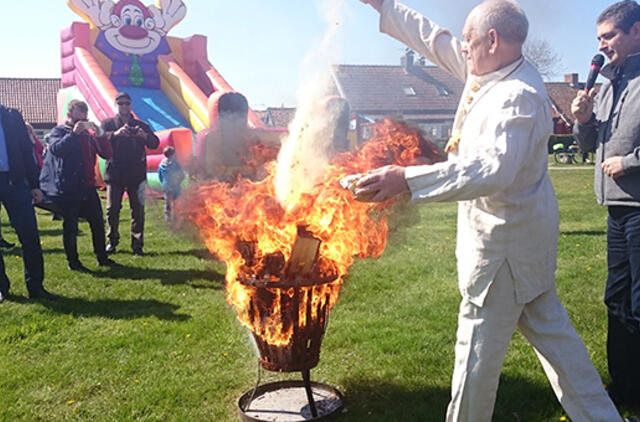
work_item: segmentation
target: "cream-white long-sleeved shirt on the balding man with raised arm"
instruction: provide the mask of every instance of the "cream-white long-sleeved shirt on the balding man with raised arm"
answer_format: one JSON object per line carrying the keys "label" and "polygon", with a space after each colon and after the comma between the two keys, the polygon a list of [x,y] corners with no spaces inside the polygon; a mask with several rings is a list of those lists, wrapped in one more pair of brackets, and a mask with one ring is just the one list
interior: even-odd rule
{"label": "cream-white long-sleeved shirt on the balding man with raised arm", "polygon": [[[380,30],[471,83],[460,41],[419,13],[386,0]],[[516,300],[526,303],[554,286],[558,204],[547,173],[551,104],[539,73],[524,59],[473,80],[480,89],[467,105],[457,153],[434,165],[407,167],[405,177],[415,201],[458,201],[461,294],[482,306],[506,261]]]}

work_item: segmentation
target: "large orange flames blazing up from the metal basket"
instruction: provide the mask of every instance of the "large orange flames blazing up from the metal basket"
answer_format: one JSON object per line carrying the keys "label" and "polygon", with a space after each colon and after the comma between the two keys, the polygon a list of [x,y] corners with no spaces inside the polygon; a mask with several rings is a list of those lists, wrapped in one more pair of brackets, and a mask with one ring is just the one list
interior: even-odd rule
{"label": "large orange flames blazing up from the metal basket", "polygon": [[[385,120],[375,126],[374,133],[356,151],[334,157],[321,182],[286,206],[276,199],[274,161],[264,164],[262,180],[239,178],[233,184],[200,185],[186,192],[178,204],[178,214],[195,224],[207,248],[226,263],[227,301],[238,319],[270,345],[286,346],[294,332],[293,324],[283,318],[284,308],[298,302],[294,289],[282,294],[269,286],[287,277],[300,228],[320,241],[315,265],[305,276],[324,282],[303,283],[299,288],[300,297],[307,298],[297,303],[299,328],[319,318],[319,310],[335,305],[355,256],[378,257],[385,248],[389,203],[356,201],[339,181],[387,164],[442,160],[433,144],[404,123]],[[261,160],[249,157],[247,161]],[[266,289],[256,287],[261,283]],[[265,306],[266,314],[258,309]]]}

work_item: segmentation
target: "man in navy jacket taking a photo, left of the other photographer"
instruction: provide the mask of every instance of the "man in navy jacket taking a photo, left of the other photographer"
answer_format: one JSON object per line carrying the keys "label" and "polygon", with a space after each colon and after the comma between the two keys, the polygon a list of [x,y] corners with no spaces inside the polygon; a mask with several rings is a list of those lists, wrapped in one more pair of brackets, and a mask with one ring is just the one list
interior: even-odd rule
{"label": "man in navy jacket taking a photo, left of the other photographer", "polygon": [[98,125],[87,120],[89,109],[80,100],[67,106],[67,121],[53,128],[40,173],[42,191],[62,210],[62,242],[70,270],[87,271],[78,257],[78,219],[91,228],[98,265],[113,262],[105,251],[102,204],[96,191],[96,154],[111,157],[111,144]]}

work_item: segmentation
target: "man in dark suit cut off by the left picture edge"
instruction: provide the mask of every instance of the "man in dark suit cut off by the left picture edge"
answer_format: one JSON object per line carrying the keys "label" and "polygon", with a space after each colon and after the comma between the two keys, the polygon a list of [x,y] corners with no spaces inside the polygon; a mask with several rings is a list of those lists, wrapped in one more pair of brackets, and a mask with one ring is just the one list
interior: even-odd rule
{"label": "man in dark suit cut off by the left picture edge", "polygon": [[[38,187],[38,167],[33,146],[22,115],[0,105],[0,201],[6,207],[11,225],[22,245],[24,279],[29,298],[54,300],[58,296],[45,290],[44,260],[33,202],[42,201]],[[9,294],[11,283],[0,255],[0,302]]]}

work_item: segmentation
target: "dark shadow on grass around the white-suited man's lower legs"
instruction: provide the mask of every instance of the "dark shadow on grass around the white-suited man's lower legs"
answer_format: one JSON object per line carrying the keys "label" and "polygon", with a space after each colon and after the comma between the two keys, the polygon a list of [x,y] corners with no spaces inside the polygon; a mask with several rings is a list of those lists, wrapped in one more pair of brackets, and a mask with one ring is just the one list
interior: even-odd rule
{"label": "dark shadow on grass around the white-suited man's lower legs", "polygon": [[[348,412],[340,420],[345,422],[441,422],[451,397],[448,386],[409,386],[369,379],[348,379],[342,385]],[[558,412],[562,412],[560,404],[547,385],[501,377],[493,420],[554,420]]]}

